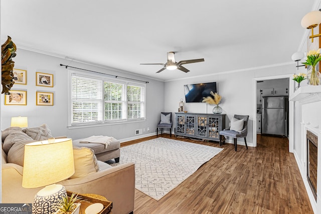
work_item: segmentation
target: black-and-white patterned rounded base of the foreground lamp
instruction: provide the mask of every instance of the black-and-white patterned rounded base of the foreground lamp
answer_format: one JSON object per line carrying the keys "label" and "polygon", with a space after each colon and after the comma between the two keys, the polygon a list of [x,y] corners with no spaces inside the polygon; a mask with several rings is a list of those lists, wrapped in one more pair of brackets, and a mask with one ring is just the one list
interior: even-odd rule
{"label": "black-and-white patterned rounded base of the foreground lamp", "polygon": [[32,203],[33,214],[50,214],[58,208],[56,205],[67,196],[65,187],[61,184],[51,184],[41,189],[34,197]]}

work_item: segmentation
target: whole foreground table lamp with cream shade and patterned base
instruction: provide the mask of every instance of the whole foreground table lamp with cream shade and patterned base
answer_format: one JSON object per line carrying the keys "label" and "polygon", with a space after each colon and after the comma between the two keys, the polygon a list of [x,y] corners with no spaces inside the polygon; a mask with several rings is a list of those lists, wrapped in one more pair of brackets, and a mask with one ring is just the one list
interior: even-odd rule
{"label": "whole foreground table lamp with cream shade and patterned base", "polygon": [[46,186],[34,197],[32,213],[54,213],[66,189],[56,182],[75,173],[72,139],[49,139],[25,145],[22,186]]}

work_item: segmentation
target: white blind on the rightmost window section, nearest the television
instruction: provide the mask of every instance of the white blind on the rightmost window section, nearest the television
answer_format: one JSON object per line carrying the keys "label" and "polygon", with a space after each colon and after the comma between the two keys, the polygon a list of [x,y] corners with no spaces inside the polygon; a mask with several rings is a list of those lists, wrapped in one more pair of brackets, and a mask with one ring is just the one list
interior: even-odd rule
{"label": "white blind on the rightmost window section, nearest the television", "polygon": [[140,119],[145,117],[145,88],[127,85],[127,117]]}

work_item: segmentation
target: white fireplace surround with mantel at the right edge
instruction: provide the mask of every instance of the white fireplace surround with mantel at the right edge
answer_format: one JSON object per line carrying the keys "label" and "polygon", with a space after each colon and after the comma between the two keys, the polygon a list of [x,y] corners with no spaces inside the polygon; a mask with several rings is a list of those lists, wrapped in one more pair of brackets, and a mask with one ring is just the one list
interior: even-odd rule
{"label": "white fireplace surround with mantel at the right edge", "polygon": [[[294,157],[300,170],[301,177],[303,179],[305,189],[310,199],[311,206],[314,213],[321,213],[321,146],[317,148],[317,187],[316,187],[316,201],[314,199],[312,190],[308,184],[307,174],[307,143],[306,143],[306,131],[309,130],[318,137],[318,145],[321,145],[321,86],[303,86],[298,88],[292,96],[289,97],[289,101],[296,101],[297,104],[302,105],[297,110],[301,115],[301,148],[294,149]],[[317,103],[317,108],[308,109],[309,111],[302,111],[305,104]],[[300,155],[298,154],[300,152]]]}

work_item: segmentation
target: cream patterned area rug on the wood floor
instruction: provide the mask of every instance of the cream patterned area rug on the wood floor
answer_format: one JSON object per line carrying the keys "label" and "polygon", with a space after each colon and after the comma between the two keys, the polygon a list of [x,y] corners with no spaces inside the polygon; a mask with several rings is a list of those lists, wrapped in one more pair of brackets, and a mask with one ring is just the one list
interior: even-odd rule
{"label": "cream patterned area rug on the wood floor", "polygon": [[163,137],[120,148],[119,163],[135,163],[135,188],[161,199],[223,148]]}

